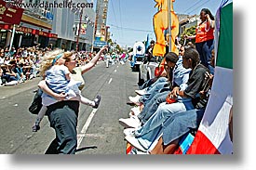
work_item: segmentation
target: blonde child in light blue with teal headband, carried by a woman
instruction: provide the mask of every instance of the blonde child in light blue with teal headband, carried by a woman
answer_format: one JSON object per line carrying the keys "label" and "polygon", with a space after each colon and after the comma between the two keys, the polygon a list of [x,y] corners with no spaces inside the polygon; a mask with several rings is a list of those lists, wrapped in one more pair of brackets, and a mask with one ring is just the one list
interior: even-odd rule
{"label": "blonde child in light blue with teal headband, carried by a woman", "polygon": [[47,86],[59,96],[53,98],[47,93],[42,95],[43,107],[39,111],[34,126],[33,131],[37,132],[40,129],[40,122],[44,118],[47,112],[47,106],[57,103],[59,100],[78,100],[79,102],[89,105],[92,108],[97,109],[100,105],[101,96],[97,96],[93,101],[88,98],[84,98],[81,95],[79,86],[82,82],[74,81],[71,78],[71,72],[64,65],[66,60],[71,60],[74,55],[72,52],[63,52],[60,49],[48,52],[42,59],[40,63],[40,74],[46,81]]}

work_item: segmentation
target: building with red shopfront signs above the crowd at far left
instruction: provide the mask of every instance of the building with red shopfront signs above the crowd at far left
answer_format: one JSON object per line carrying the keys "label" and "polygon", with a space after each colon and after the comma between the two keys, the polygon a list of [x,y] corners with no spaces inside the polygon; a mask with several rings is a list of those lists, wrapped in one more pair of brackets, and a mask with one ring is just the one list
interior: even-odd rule
{"label": "building with red shopfront signs above the crowd at far left", "polygon": [[[32,0],[23,0],[24,4],[33,3]],[[39,3],[39,1],[34,1]],[[36,46],[46,47],[49,38],[56,38],[57,35],[51,33],[52,20],[50,13],[40,7],[22,7],[24,9],[20,24],[14,25],[8,22],[0,23],[0,47],[5,46]],[[14,31],[14,34],[13,34]],[[13,36],[13,41],[11,37]]]}

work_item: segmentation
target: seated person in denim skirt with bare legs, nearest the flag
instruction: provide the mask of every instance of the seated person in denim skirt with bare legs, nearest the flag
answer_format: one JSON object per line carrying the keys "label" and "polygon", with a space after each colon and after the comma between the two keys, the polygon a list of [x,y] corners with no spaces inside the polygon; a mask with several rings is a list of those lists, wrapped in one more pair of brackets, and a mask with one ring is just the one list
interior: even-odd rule
{"label": "seated person in denim skirt with bare legs, nearest the flag", "polygon": [[172,154],[178,149],[183,136],[197,131],[208,103],[209,88],[212,85],[213,75],[207,73],[206,78],[209,81],[206,88],[200,91],[201,102],[196,105],[194,110],[179,112],[168,118],[162,125],[162,136],[157,141],[154,149],[150,151],[151,154]]}

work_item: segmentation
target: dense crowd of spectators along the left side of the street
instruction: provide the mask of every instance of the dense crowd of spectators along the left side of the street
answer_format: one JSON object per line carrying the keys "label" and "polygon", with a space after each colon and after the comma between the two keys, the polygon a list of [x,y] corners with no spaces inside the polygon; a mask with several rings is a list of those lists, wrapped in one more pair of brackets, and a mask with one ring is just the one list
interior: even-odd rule
{"label": "dense crowd of spectators along the left side of the street", "polygon": [[[18,85],[39,76],[40,58],[52,50],[39,46],[0,48],[0,86]],[[79,65],[88,63],[95,56],[88,51],[79,51],[75,55]]]}

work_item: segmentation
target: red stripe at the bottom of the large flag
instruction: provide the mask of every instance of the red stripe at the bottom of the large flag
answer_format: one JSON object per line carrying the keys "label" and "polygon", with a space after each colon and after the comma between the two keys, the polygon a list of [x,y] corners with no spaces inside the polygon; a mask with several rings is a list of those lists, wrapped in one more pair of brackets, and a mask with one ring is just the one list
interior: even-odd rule
{"label": "red stripe at the bottom of the large flag", "polygon": [[201,131],[197,131],[195,139],[186,154],[221,154]]}

